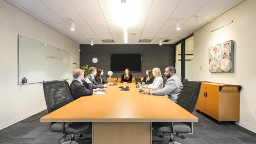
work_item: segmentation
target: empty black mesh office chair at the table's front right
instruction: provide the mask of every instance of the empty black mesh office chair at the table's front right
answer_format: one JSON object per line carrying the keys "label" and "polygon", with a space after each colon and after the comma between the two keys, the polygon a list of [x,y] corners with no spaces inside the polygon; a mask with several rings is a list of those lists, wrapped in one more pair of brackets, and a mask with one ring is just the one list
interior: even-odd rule
{"label": "empty black mesh office chair at the table's front right", "polygon": [[[187,81],[184,83],[180,96],[177,100],[178,105],[193,113],[199,97],[201,82]],[[161,133],[171,133],[169,144],[180,144],[173,140],[173,133],[193,133],[193,123],[152,123],[152,128]],[[152,140],[152,142],[162,142],[163,140]]]}

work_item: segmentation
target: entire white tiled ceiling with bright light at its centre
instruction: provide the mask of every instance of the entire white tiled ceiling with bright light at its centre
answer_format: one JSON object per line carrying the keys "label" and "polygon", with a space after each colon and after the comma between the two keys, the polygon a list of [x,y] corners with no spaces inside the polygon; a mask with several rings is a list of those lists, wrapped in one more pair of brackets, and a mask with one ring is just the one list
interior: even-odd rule
{"label": "entire white tiled ceiling with bright light at its centre", "polygon": [[[124,44],[122,23],[128,24],[128,44],[148,44],[139,40],[159,44],[159,38],[171,39],[163,44],[175,44],[244,0],[126,0],[126,13],[121,0],[5,1],[79,44],[90,44],[92,37],[94,44],[104,44],[101,40]],[[70,18],[75,19],[75,31],[70,30]]]}

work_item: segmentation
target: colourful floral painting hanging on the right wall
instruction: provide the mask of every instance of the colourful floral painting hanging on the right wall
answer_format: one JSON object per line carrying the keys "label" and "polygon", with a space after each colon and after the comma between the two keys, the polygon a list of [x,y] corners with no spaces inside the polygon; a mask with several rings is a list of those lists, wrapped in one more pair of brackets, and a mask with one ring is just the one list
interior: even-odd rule
{"label": "colourful floral painting hanging on the right wall", "polygon": [[210,72],[234,72],[234,41],[209,47]]}

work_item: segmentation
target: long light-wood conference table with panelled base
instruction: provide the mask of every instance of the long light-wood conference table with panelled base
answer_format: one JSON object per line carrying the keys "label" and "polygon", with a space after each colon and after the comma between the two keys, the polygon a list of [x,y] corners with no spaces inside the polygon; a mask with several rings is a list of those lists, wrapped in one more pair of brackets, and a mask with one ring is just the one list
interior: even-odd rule
{"label": "long light-wood conference table with panelled base", "polygon": [[[120,91],[120,86],[129,91]],[[41,118],[41,122],[92,122],[92,144],[152,144],[152,122],[198,122],[165,96],[139,93],[135,83],[108,86]]]}

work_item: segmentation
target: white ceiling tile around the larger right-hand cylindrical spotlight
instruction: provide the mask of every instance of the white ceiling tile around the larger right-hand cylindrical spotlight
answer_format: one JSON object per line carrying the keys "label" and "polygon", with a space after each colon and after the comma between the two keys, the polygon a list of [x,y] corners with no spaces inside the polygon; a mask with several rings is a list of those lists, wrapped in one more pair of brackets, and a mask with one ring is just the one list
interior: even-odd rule
{"label": "white ceiling tile around the larger right-hand cylindrical spotlight", "polygon": [[180,25],[182,25],[193,15],[194,13],[172,13],[160,31],[175,31],[178,18],[180,18]]}

